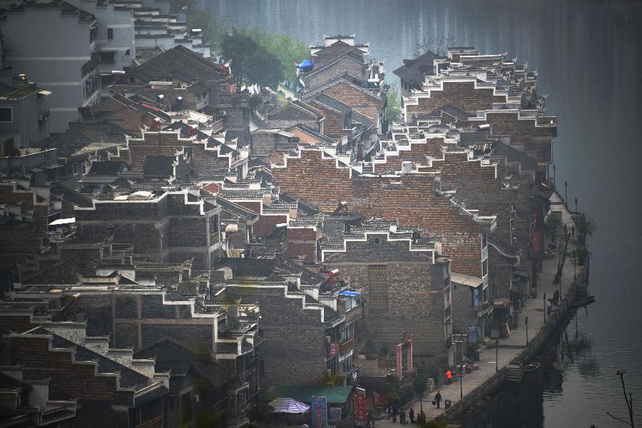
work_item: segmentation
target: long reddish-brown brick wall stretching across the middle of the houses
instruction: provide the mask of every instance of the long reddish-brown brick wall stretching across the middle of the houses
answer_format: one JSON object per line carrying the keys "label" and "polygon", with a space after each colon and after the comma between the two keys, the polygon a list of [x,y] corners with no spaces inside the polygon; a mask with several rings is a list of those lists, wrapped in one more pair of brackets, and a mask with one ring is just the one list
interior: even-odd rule
{"label": "long reddish-brown brick wall stretching across the middle of the houses", "polygon": [[321,158],[320,151],[302,150],[301,158],[288,158],[287,167],[273,168],[272,176],[281,192],[318,205],[322,211],[331,213],[338,201],[347,200],[348,210],[364,218],[397,220],[399,225],[441,235],[444,253],[457,259],[453,271],[481,276],[481,233],[489,227],[460,215],[446,198],[436,196],[432,175],[350,179],[348,170],[337,168],[334,159]]}

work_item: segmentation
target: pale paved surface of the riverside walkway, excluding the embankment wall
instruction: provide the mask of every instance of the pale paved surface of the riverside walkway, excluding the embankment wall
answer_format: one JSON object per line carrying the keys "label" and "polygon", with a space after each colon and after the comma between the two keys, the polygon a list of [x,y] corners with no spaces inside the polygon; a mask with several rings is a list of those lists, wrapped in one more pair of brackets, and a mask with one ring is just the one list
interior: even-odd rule
{"label": "pale paved surface of the riverside walkway, excluding the embankment wall", "polygon": [[[562,224],[570,225],[573,223],[573,218],[569,210],[566,209],[566,206],[559,198],[559,195],[554,193],[551,197],[552,210],[561,211],[562,213]],[[541,327],[544,325],[544,292],[546,292],[546,297],[553,297],[555,290],[559,290],[560,285],[554,284],[553,280],[557,272],[557,258],[551,258],[549,260],[544,260],[542,270],[539,273],[539,280],[537,282],[537,297],[533,299],[526,300],[526,305],[521,308],[519,313],[519,328],[511,330],[511,336],[507,338],[502,338],[499,340],[499,369],[506,366],[514,360],[526,347],[526,327],[524,326],[525,317],[529,317],[529,340],[535,337],[539,332]],[[579,272],[578,272],[579,274]],[[561,277],[561,295],[564,296],[566,290],[569,289],[573,283],[573,263],[566,259],[564,264],[564,270]],[[457,310],[457,308],[454,308]],[[489,341],[493,343],[494,341]],[[512,347],[502,347],[503,345],[510,345]],[[482,383],[489,379],[493,374],[495,374],[495,349],[487,349],[486,346],[482,346],[479,352],[479,370],[474,370],[472,373],[464,374],[463,382],[461,384],[464,396],[471,392],[473,389],[479,387]],[[437,409],[436,406],[432,405],[432,399],[434,394],[437,393],[437,390],[442,394],[442,400],[449,399],[454,404],[459,401],[460,397],[460,383],[453,382],[451,385],[436,385],[436,389],[430,394],[424,394],[423,408],[424,413],[427,415],[427,420],[434,419],[444,412],[444,401],[440,409]],[[412,404],[404,407],[406,414],[408,409],[412,407],[415,414],[419,412],[419,399],[414,400]],[[409,419],[407,418],[407,421]],[[393,428],[399,427],[399,421],[397,423],[392,423],[391,421],[381,420],[376,422],[377,427],[382,428]]]}

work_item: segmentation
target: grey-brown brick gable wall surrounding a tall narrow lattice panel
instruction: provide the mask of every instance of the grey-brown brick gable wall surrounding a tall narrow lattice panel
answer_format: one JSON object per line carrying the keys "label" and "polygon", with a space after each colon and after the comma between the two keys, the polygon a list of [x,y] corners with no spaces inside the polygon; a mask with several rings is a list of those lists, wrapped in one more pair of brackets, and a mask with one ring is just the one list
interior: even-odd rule
{"label": "grey-brown brick gable wall surrounding a tall narrow lattice panel", "polygon": [[[445,357],[444,269],[433,264],[429,253],[410,252],[407,242],[388,242],[381,235],[368,235],[365,243],[350,242],[346,253],[329,253],[325,265],[339,268],[342,280],[362,290],[365,297],[367,336],[374,340],[369,352],[377,354],[382,345],[389,350],[402,340],[404,332],[414,340],[419,358]],[[387,270],[388,309],[374,309],[368,302],[371,265]],[[372,297],[372,298],[371,298]]]}

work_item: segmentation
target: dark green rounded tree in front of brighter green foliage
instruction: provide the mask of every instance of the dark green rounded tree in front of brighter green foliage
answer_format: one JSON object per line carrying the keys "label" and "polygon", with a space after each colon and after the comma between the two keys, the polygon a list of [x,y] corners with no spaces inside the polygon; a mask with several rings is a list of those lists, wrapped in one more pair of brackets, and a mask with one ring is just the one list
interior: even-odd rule
{"label": "dark green rounded tree in front of brighter green foliage", "polygon": [[259,83],[261,86],[275,88],[282,80],[278,58],[238,29],[233,29],[223,38],[221,56],[230,61],[234,83],[238,89],[244,83]]}

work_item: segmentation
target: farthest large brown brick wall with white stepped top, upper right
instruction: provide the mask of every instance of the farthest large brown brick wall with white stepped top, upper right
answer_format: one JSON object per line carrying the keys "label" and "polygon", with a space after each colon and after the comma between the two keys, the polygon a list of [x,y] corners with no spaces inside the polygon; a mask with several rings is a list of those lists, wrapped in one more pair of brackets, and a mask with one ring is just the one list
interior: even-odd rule
{"label": "farthest large brown brick wall with white stepped top, upper right", "polygon": [[493,103],[506,103],[505,95],[493,95],[493,88],[474,88],[474,82],[443,82],[443,90],[431,89],[429,97],[418,98],[418,104],[405,103],[404,108],[410,120],[413,114],[426,114],[444,104],[452,104],[464,111],[490,110]]}

